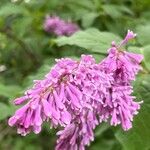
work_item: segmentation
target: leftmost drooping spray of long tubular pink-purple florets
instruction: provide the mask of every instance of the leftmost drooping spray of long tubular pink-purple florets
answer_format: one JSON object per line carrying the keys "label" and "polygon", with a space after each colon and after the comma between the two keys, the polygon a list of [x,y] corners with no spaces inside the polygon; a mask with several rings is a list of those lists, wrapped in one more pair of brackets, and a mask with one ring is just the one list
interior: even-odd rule
{"label": "leftmost drooping spray of long tubular pink-purple florets", "polygon": [[68,107],[81,109],[81,92],[70,82],[71,73],[77,65],[71,59],[57,60],[44,80],[35,81],[25,96],[15,100],[17,105],[26,104],[9,119],[9,125],[16,126],[19,134],[26,135],[30,131],[39,133],[45,120],[50,120],[53,127],[69,124],[72,118]]}

